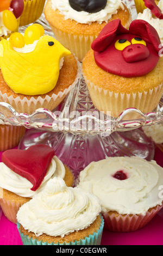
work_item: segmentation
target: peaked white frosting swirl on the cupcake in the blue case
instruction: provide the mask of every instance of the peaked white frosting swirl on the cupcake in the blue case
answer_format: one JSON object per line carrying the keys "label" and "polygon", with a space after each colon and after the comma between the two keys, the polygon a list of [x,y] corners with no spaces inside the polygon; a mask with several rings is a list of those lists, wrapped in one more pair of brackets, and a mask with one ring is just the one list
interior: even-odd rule
{"label": "peaked white frosting swirl on the cupcake in the blue case", "polygon": [[101,212],[98,199],[81,188],[66,187],[64,180],[49,180],[42,192],[21,206],[17,221],[37,236],[64,237],[89,227]]}

